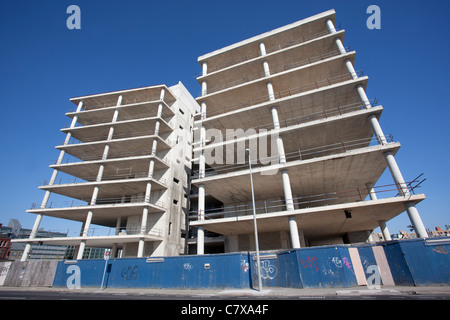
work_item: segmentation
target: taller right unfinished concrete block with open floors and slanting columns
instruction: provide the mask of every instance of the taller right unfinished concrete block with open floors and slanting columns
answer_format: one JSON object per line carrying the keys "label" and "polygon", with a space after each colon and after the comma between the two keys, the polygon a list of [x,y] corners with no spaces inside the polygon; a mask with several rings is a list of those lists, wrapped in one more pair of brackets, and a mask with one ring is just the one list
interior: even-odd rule
{"label": "taller right unfinished concrete block with open floors and slanting columns", "polygon": [[[427,237],[415,207],[425,196],[405,183],[394,158],[400,143],[383,133],[383,107],[368,99],[368,77],[355,71],[355,52],[334,23],[330,10],[198,58],[190,215],[198,254],[221,241],[225,252],[255,250],[249,158],[239,142],[250,149],[261,250],[364,242],[379,226],[389,240],[386,222],[405,210]],[[267,130],[275,143],[261,157],[251,143]],[[397,195],[376,185],[386,168]]]}

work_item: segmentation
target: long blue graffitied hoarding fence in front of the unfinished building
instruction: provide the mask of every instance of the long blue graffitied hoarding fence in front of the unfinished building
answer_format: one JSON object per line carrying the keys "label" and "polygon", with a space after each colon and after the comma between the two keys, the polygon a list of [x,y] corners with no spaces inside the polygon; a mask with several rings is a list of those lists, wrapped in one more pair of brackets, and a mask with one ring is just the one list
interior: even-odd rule
{"label": "long blue graffitied hoarding fence in front of the unfinished building", "polygon": [[[450,284],[450,237],[263,252],[263,287]],[[0,285],[109,288],[257,288],[254,253],[0,263]]]}

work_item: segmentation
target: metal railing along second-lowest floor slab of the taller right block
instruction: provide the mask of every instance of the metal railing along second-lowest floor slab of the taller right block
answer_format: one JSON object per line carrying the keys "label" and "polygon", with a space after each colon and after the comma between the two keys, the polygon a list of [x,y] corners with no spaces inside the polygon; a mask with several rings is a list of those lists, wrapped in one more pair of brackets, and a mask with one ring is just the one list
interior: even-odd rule
{"label": "metal railing along second-lowest floor slab of the taller right block", "polygon": [[[392,135],[385,135],[386,141],[388,143],[393,142]],[[333,143],[326,146],[319,146],[314,148],[302,149],[298,148],[298,151],[285,153],[285,158],[287,162],[297,161],[297,160],[307,160],[312,158],[325,157],[332,154],[344,153],[350,150],[359,149],[368,147],[371,145],[378,145],[379,140],[376,137],[364,138],[364,139],[355,139],[349,141],[341,141],[337,143]],[[219,146],[219,147],[223,147]],[[280,156],[276,154],[275,156],[270,156],[266,158],[258,158],[256,163],[252,162],[253,168],[263,167],[264,164],[279,164]],[[225,164],[220,166],[215,166],[214,168],[207,168],[203,174],[201,170],[193,171],[193,179],[198,179],[200,176],[212,176],[218,174],[227,174],[229,172],[235,172],[239,170],[247,170],[248,169],[248,161],[246,160],[243,163],[236,164]]]}

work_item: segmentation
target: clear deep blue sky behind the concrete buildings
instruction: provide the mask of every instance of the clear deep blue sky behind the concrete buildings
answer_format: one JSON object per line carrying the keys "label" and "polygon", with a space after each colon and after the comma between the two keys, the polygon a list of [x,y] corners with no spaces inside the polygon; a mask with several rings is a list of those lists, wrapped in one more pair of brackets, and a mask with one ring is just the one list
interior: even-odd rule
{"label": "clear deep blue sky behind the concrete buildings", "polygon": [[[81,8],[81,30],[66,27],[71,4]],[[381,30],[366,27],[371,4],[381,8]],[[369,98],[385,109],[384,132],[402,143],[396,158],[405,179],[427,178],[418,206],[426,227],[450,224],[450,2],[442,0],[2,0],[0,222],[32,227],[25,210],[42,201],[38,186],[58,157],[69,98],[178,81],[197,96],[198,56],[332,8],[357,52],[356,69],[369,76]],[[380,183],[392,183],[389,173]],[[404,213],[388,226],[396,233],[408,224]],[[71,232],[79,225],[41,223]]]}

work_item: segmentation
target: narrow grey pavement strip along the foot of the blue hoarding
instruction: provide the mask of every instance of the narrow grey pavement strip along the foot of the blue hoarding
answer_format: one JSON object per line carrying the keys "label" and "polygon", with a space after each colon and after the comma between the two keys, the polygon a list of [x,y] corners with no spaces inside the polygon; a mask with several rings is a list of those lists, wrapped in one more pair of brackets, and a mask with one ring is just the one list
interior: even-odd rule
{"label": "narrow grey pavement strip along the foot of the blue hoarding", "polygon": [[147,289],[147,288],[50,288],[50,287],[2,287],[0,291],[44,291],[44,292],[79,292],[96,294],[117,294],[117,295],[162,295],[167,296],[189,296],[190,299],[222,299],[222,298],[258,298],[265,297],[274,299],[283,298],[311,298],[326,299],[335,296],[374,296],[374,295],[442,295],[450,299],[450,286],[382,286],[380,289],[368,289],[367,287],[353,288],[265,288],[261,292],[253,289]]}

